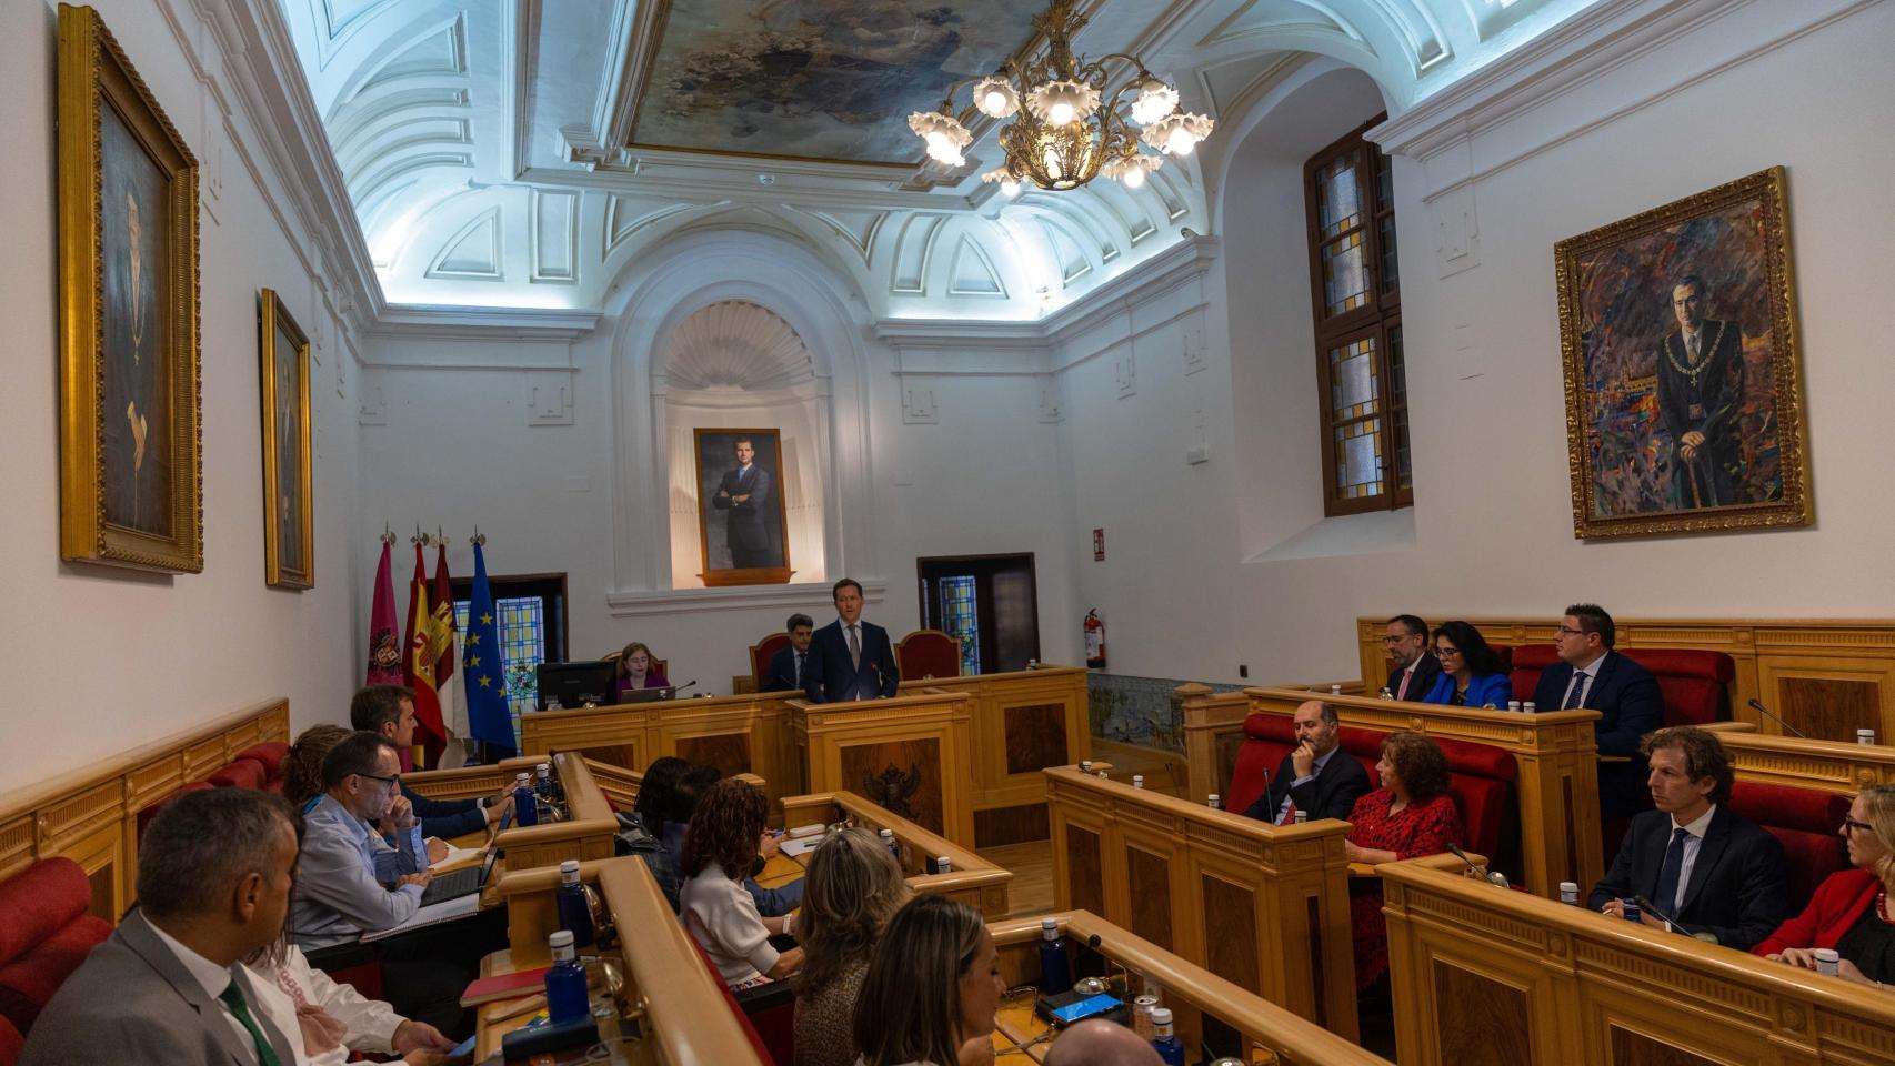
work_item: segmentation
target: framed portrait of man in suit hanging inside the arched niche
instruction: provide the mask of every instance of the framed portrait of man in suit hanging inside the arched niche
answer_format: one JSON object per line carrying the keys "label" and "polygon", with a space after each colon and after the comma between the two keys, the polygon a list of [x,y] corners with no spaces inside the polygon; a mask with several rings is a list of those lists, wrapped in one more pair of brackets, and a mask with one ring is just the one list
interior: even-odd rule
{"label": "framed portrait of man in suit hanging inside the arched niche", "polygon": [[694,430],[705,585],[783,585],[790,542],[779,430]]}

